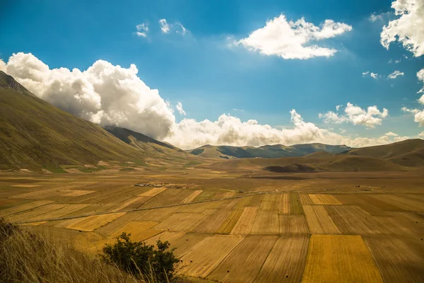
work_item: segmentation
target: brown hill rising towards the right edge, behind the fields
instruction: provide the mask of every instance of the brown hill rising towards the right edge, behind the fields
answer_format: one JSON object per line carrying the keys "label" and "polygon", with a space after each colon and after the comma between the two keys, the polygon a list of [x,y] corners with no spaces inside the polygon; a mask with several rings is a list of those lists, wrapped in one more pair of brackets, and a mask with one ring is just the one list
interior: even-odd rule
{"label": "brown hill rising towards the right edge, behind the fields", "polygon": [[345,154],[380,158],[402,166],[424,166],[424,140],[407,139],[382,146],[367,146],[351,149]]}

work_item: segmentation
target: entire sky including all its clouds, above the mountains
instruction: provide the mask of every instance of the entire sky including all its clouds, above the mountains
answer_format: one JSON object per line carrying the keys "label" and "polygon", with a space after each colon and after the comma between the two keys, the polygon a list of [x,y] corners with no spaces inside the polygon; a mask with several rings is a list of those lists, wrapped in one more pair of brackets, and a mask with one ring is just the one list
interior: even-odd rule
{"label": "entire sky including all its clouds, above the mountains", "polygon": [[424,138],[424,0],[0,1],[0,69],[183,149]]}

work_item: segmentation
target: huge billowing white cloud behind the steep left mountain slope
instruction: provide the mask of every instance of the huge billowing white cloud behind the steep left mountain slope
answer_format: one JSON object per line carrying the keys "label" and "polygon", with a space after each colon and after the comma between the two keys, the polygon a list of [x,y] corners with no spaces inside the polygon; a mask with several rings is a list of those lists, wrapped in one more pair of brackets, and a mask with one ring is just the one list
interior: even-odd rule
{"label": "huge billowing white cloud behind the steep left mountain slope", "polygon": [[134,64],[98,60],[86,71],[49,69],[33,54],[13,54],[6,72],[49,103],[100,125],[116,124],[163,139],[175,123],[158,90],[146,86]]}

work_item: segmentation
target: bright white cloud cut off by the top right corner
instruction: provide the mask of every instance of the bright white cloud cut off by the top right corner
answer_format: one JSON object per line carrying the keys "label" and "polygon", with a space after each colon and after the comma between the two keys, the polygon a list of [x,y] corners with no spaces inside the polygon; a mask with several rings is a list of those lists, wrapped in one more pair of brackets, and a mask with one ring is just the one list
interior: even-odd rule
{"label": "bright white cloud cut off by the top right corner", "polygon": [[384,25],[380,34],[381,44],[389,49],[391,42],[398,40],[415,57],[424,54],[424,0],[396,0],[391,2],[396,16]]}

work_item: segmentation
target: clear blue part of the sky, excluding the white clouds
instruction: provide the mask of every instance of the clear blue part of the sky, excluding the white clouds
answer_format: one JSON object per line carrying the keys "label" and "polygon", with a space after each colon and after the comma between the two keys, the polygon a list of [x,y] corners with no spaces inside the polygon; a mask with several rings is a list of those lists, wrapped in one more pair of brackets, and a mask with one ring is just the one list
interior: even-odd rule
{"label": "clear blue part of the sky, excluding the white clouds", "polygon": [[[123,68],[135,64],[139,78],[157,88],[161,98],[182,103],[187,116],[175,111],[177,122],[184,117],[216,121],[230,113],[279,129],[292,126],[290,110],[295,109],[305,121],[351,137],[423,132],[401,108],[419,108],[417,72],[424,58],[413,57],[399,42],[389,50],[379,42],[382,27],[396,18],[391,1],[45,0],[1,5],[0,58],[5,62],[13,53],[30,52],[50,69],[83,71],[98,59]],[[372,13],[381,18],[370,21]],[[284,59],[232,43],[281,14],[317,26],[331,19],[352,29],[319,40],[320,47],[337,50],[331,57]],[[160,30],[160,19],[166,19],[170,32]],[[141,23],[148,26],[146,37],[136,35]],[[178,24],[187,29],[184,35],[176,33]],[[387,79],[396,70],[404,76]],[[364,77],[365,71],[379,76]],[[372,128],[319,119],[319,113],[348,102],[364,109],[377,105],[389,115]]]}

